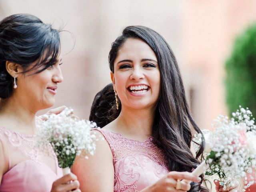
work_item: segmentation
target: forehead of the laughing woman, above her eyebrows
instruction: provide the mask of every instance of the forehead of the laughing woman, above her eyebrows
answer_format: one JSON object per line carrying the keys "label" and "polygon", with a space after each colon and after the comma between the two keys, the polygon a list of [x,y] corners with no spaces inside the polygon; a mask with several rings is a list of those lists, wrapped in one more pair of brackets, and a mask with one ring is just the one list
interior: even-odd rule
{"label": "forehead of the laughing woman, above her eyebrows", "polygon": [[129,57],[149,58],[156,60],[156,54],[152,48],[141,39],[128,38],[118,51],[117,59]]}

